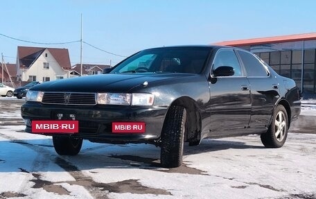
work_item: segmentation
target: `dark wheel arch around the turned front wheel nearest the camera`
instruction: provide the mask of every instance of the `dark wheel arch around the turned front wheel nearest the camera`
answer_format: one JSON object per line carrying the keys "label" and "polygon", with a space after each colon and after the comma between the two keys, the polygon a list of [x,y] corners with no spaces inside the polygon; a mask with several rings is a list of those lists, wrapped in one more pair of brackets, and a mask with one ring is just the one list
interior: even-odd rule
{"label": "dark wheel arch around the turned front wheel nearest the camera", "polygon": [[[184,141],[200,141],[202,116],[198,104],[188,96],[177,98],[172,105],[182,106],[186,109],[186,129],[184,131]],[[169,106],[169,107],[170,107]]]}

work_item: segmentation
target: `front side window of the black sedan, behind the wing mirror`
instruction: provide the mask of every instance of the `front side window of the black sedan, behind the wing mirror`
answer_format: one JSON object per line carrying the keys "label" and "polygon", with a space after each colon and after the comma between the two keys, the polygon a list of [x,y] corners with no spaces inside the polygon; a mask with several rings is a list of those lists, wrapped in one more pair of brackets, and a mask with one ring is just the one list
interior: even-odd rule
{"label": "front side window of the black sedan, behind the wing mirror", "polygon": [[213,61],[212,71],[218,67],[224,66],[233,67],[234,76],[242,76],[238,58],[236,57],[235,52],[231,49],[222,49],[216,53],[215,59]]}

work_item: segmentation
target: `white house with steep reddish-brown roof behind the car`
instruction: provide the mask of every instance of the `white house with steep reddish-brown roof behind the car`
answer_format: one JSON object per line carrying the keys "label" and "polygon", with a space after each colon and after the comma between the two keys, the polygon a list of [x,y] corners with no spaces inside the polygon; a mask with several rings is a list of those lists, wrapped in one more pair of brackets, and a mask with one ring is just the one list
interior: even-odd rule
{"label": "white house with steep reddish-brown roof behind the car", "polygon": [[16,65],[19,81],[45,82],[71,76],[68,49],[18,46]]}

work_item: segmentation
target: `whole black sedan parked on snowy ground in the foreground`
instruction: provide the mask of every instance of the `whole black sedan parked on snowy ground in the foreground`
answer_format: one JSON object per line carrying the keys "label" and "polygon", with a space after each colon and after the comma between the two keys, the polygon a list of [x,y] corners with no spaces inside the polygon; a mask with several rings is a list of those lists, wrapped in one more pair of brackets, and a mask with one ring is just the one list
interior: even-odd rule
{"label": "whole black sedan parked on snowy ground in the foreground", "polygon": [[147,49],[106,72],[31,87],[26,132],[53,136],[59,155],[77,155],[82,139],[155,144],[171,168],[182,164],[184,142],[207,137],[258,134],[279,148],[301,112],[294,80],[243,49]]}

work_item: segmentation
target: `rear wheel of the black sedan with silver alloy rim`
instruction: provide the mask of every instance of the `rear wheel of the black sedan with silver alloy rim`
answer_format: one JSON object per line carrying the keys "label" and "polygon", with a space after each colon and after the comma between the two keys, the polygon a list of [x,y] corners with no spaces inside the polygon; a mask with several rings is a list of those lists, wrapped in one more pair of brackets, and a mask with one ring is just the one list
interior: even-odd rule
{"label": "rear wheel of the black sedan with silver alloy rim", "polygon": [[280,148],[288,137],[288,113],[283,105],[277,105],[272,122],[267,132],[261,134],[261,141],[266,148]]}

